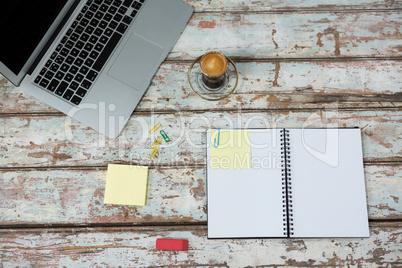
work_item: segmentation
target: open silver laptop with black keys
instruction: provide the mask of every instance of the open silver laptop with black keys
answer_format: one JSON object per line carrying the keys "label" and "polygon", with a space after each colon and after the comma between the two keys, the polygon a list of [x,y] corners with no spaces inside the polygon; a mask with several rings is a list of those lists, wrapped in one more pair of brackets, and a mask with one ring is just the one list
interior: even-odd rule
{"label": "open silver laptop with black keys", "polygon": [[0,73],[116,138],[193,8],[181,0],[2,3]]}

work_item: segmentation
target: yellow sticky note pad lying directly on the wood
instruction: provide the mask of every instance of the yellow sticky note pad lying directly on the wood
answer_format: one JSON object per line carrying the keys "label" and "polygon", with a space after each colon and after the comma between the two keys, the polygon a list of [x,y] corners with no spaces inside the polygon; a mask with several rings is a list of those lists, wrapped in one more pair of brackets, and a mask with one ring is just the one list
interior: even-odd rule
{"label": "yellow sticky note pad lying directly on the wood", "polygon": [[110,164],[104,203],[145,206],[147,184],[148,167]]}

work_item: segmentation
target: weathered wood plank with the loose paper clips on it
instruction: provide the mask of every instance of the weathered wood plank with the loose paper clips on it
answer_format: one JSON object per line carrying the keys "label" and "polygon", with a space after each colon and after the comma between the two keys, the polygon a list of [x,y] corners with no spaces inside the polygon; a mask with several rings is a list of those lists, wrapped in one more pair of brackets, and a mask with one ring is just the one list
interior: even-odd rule
{"label": "weathered wood plank with the loose paper clips on it", "polygon": [[[366,161],[400,161],[402,111],[275,111],[171,114],[135,113],[118,139],[65,116],[0,118],[0,167],[105,166],[111,162],[144,165],[205,163],[206,129],[281,127],[361,127]],[[149,160],[148,131],[156,123],[171,138]]]}

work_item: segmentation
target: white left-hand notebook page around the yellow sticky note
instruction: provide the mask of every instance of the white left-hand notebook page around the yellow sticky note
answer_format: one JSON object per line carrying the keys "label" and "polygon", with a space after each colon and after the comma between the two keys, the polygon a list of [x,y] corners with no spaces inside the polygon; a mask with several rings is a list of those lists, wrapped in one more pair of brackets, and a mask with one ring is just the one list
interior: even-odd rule
{"label": "white left-hand notebook page around the yellow sticky note", "polygon": [[280,130],[247,131],[251,169],[211,168],[207,132],[208,238],[284,237]]}

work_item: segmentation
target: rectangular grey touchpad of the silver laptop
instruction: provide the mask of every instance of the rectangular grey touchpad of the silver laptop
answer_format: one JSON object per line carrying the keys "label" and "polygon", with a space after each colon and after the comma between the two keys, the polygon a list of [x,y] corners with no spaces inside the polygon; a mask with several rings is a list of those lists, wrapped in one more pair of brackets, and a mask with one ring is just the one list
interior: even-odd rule
{"label": "rectangular grey touchpad of the silver laptop", "polygon": [[159,66],[162,53],[162,47],[137,34],[132,34],[108,74],[139,90],[149,82],[147,78],[154,75],[155,65]]}

